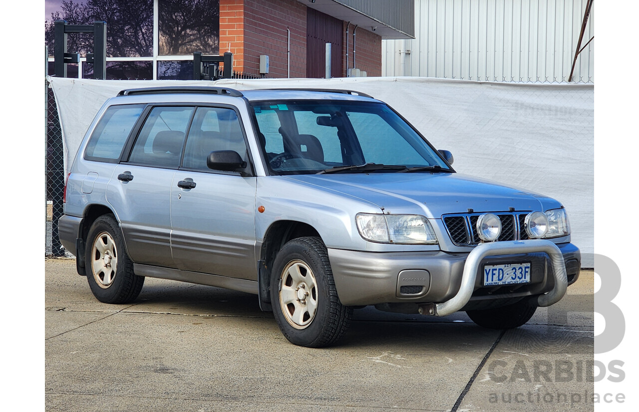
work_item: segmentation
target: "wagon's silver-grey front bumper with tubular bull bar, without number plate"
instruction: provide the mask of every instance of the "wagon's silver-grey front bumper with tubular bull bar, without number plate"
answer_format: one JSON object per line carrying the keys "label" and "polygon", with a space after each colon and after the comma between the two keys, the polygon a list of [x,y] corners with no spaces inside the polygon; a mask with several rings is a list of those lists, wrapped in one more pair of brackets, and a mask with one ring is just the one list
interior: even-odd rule
{"label": "wagon's silver-grey front bumper with tubular bull bar, without number plate", "polygon": [[[556,289],[551,296],[539,296],[537,299],[541,300],[535,302],[550,305],[565,293],[561,283],[572,284],[577,280],[581,264],[579,249],[572,243],[555,245],[546,240],[485,243],[469,253],[360,252],[330,248],[328,258],[337,294],[344,305],[442,304],[455,298],[452,303],[436,305],[440,315],[467,309],[473,303],[481,307],[478,301],[536,296]],[[465,271],[467,259],[469,266]],[[530,284],[482,286],[484,264],[521,262],[531,263]],[[417,293],[401,293],[403,286],[414,286],[412,283],[417,287],[410,292]]]}

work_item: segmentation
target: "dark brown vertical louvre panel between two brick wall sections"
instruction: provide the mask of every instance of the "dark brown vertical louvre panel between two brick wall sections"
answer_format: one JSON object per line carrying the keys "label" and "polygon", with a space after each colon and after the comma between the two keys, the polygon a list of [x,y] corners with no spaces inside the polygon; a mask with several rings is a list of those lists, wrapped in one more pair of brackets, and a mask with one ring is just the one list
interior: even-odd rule
{"label": "dark brown vertical louvre panel between two brick wall sections", "polygon": [[306,76],[320,79],[326,75],[326,43],[332,43],[332,77],[342,76],[344,24],[314,8],[306,8]]}

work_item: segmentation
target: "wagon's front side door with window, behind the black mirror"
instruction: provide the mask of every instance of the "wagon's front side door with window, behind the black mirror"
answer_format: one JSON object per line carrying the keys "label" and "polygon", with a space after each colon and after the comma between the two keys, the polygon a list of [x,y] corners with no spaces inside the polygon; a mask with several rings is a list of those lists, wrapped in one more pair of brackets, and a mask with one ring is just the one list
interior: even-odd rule
{"label": "wagon's front side door with window, behind the black mirror", "polygon": [[[238,152],[247,167],[208,169],[206,158],[218,150]],[[178,269],[257,280],[256,182],[236,110],[197,108],[171,185],[171,248]]]}

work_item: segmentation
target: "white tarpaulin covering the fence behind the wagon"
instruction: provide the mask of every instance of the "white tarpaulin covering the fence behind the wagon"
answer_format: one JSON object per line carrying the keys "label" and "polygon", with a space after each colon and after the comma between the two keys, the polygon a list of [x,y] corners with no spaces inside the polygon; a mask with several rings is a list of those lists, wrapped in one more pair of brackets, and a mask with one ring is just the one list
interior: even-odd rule
{"label": "white tarpaulin covering the fence behind the wagon", "polygon": [[594,261],[594,86],[424,77],[261,80],[79,80],[49,77],[58,103],[65,170],[107,98],[122,89],[215,86],[362,91],[389,103],[454,169],[555,197],[569,213],[581,266]]}

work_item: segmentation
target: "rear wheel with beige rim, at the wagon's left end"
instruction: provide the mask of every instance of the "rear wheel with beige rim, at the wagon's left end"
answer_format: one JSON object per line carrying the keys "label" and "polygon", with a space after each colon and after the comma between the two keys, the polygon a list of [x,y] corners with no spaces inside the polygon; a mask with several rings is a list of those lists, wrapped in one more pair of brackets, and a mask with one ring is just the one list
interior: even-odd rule
{"label": "rear wheel with beige rim, at the wagon's left end", "polygon": [[[86,278],[97,300],[103,303],[128,303],[140,294],[144,277],[133,272],[133,262],[127,255],[124,238],[114,215],[102,215],[93,222],[86,239],[84,256]],[[115,264],[112,264],[114,261]]]}

